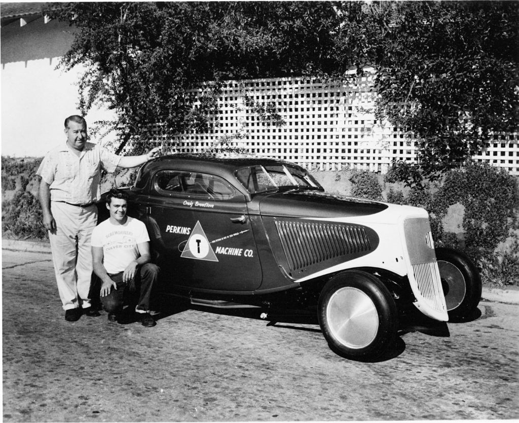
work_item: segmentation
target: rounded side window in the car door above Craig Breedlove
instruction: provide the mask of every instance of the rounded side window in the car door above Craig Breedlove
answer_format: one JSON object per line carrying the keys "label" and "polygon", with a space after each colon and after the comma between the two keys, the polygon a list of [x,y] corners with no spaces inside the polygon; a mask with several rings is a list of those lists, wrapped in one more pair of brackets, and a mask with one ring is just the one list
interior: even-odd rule
{"label": "rounded side window in the car door above Craig Breedlove", "polygon": [[206,200],[230,200],[237,192],[225,179],[199,172],[160,170],[154,187],[162,195]]}

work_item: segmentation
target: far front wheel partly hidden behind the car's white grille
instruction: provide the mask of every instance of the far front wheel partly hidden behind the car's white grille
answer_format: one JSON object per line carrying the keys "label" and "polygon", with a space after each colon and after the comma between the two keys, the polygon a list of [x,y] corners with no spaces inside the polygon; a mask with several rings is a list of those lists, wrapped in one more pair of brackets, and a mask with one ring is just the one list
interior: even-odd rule
{"label": "far front wheel partly hidden behind the car's white grille", "polygon": [[481,277],[465,254],[451,248],[436,248],[449,322],[471,319],[481,299]]}

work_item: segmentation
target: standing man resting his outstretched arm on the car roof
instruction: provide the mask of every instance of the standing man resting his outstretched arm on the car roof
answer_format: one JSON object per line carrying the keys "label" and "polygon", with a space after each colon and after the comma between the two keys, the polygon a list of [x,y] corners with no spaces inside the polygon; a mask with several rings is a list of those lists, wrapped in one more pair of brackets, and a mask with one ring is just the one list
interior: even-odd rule
{"label": "standing man resting his outstretched arm on the car roof", "polygon": [[140,156],[118,156],[87,142],[87,123],[78,115],[65,119],[66,143],[50,150],[36,174],[39,201],[48,230],[52,261],[65,320],[100,315],[90,307],[92,275],[90,235],[97,224],[101,171],[135,167],[158,156],[158,148]]}

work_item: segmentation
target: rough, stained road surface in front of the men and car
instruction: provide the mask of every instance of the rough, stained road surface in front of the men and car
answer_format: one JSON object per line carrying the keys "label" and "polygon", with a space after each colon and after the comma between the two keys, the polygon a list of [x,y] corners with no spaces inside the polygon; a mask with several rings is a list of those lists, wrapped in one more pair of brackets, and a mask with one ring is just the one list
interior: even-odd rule
{"label": "rough, stained road surface in front of the men and car", "polygon": [[415,322],[386,360],[360,363],[312,322],[258,313],[66,322],[49,254],[3,250],[2,267],[5,422],[519,418],[519,306]]}

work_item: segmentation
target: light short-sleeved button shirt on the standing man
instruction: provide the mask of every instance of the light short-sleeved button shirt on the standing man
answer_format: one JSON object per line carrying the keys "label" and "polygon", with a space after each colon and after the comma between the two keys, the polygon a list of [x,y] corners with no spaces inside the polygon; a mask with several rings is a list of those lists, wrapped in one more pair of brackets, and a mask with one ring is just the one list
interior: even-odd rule
{"label": "light short-sleeved button shirt on the standing man", "polygon": [[65,143],[47,153],[36,174],[49,184],[51,201],[88,204],[101,197],[101,171],[112,173],[120,159],[91,142],[77,156]]}

